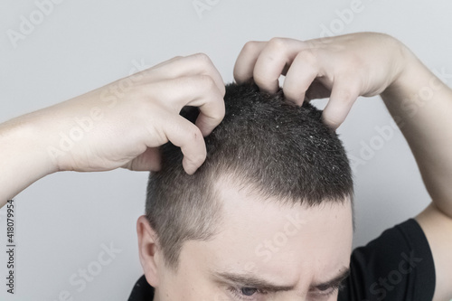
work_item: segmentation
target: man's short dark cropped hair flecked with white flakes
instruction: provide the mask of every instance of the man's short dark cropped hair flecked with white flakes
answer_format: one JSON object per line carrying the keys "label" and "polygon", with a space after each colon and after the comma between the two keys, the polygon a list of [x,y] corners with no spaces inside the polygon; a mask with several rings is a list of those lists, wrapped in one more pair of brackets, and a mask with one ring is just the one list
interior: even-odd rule
{"label": "man's short dark cropped hair flecked with white flakes", "polygon": [[[215,183],[221,176],[264,199],[307,206],[353,195],[344,146],[323,124],[320,110],[250,83],[227,85],[224,102],[225,117],[204,138],[207,158],[196,173],[184,172],[180,148],[167,143],[162,169],[149,176],[146,217],[170,268],[177,268],[184,241],[215,235],[221,221]],[[198,113],[187,107],[181,115],[194,122]]]}

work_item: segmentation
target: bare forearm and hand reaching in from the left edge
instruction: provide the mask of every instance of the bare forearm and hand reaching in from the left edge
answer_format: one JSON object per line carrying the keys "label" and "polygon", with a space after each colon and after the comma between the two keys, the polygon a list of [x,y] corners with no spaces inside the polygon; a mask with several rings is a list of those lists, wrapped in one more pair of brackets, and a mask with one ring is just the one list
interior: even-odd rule
{"label": "bare forearm and hand reaching in from the left edge", "polygon": [[[55,172],[156,171],[157,147],[168,141],[181,147],[184,169],[193,174],[206,155],[202,136],[224,117],[224,93],[220,73],[198,53],[1,124],[0,206]],[[196,125],[179,116],[189,105],[201,109]],[[69,150],[50,154],[49,147],[61,149],[61,133],[69,136],[86,118],[94,126]]]}

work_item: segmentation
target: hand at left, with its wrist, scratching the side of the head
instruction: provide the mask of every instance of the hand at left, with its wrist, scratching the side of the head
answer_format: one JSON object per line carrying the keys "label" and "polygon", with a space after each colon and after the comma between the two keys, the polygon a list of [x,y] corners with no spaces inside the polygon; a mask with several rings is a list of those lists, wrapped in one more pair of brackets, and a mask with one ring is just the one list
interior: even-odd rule
{"label": "hand at left, with its wrist, scratching the side of the head", "polygon": [[[224,116],[221,75],[204,54],[176,57],[146,71],[31,114],[56,170],[106,171],[118,167],[155,171],[157,146],[171,141],[193,174],[210,134]],[[200,108],[196,125],[179,115]]]}

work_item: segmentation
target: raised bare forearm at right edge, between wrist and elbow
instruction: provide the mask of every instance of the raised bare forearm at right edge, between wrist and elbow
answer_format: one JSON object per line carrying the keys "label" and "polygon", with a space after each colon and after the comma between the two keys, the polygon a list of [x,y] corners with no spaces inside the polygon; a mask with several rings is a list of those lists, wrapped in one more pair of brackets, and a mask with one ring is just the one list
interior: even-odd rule
{"label": "raised bare forearm at right edge, between wrist and elbow", "polygon": [[452,90],[411,53],[381,97],[399,124],[432,201],[452,217]]}

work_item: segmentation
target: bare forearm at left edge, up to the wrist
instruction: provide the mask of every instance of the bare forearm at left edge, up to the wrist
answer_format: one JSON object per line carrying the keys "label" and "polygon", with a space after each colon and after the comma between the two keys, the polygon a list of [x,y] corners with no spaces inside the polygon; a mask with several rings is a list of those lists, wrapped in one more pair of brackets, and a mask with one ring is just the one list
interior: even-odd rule
{"label": "bare forearm at left edge, up to the wrist", "polygon": [[45,153],[39,129],[29,122],[31,115],[0,125],[0,207],[33,182],[53,170]]}

